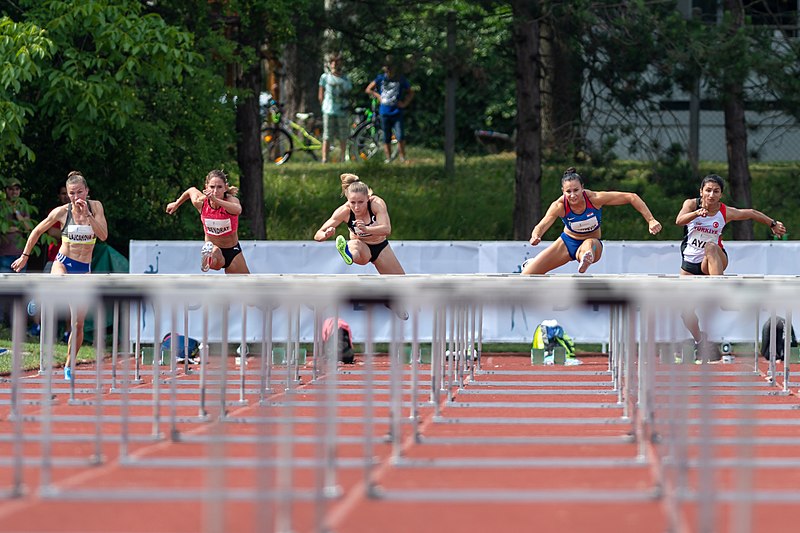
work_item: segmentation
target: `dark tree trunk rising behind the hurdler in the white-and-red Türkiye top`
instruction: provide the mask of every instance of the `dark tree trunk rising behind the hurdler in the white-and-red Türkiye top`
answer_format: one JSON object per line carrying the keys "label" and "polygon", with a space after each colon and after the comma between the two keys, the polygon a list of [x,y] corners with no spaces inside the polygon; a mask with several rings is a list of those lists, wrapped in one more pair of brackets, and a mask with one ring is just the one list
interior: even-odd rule
{"label": "dark tree trunk rising behind the hurdler in the white-and-red T\u00fcrkiye top", "polygon": [[[739,0],[726,0],[733,15],[734,31],[744,24],[744,10]],[[725,85],[725,145],[728,151],[728,182],[735,207],[752,207],[750,197],[750,167],[747,162],[747,124],[744,116],[744,89],[740,81]],[[733,238],[737,241],[753,240],[753,221],[744,220],[733,225]]]}

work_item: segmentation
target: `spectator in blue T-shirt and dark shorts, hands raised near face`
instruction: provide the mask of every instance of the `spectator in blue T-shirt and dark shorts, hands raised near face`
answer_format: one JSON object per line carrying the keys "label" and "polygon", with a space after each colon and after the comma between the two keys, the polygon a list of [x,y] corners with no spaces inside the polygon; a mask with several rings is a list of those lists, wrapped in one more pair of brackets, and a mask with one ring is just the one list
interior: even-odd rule
{"label": "spectator in blue T-shirt and dark shorts, hands raised near face", "polygon": [[380,100],[381,128],[383,129],[384,162],[392,160],[392,130],[397,139],[397,152],[406,162],[405,110],[414,99],[414,89],[399,71],[391,58],[387,58],[383,72],[372,80],[365,91]]}

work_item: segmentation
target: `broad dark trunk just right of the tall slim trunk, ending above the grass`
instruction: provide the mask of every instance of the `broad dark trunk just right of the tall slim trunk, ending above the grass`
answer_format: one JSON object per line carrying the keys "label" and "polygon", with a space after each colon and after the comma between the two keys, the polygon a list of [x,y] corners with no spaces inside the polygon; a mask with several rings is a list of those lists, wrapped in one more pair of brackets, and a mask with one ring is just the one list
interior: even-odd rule
{"label": "broad dark trunk just right of the tall slim trunk, ending above the grass", "polygon": [[542,145],[553,154],[570,158],[582,146],[580,139],[582,76],[578,58],[567,39],[571,19],[543,17],[539,58],[542,69]]}

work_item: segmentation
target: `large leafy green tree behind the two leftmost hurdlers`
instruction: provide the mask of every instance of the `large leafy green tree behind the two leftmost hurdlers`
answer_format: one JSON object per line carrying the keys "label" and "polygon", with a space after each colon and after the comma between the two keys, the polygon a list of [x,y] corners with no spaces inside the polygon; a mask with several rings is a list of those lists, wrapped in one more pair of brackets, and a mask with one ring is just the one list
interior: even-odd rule
{"label": "large leafy green tree behind the two leftmost hurdlers", "polygon": [[[3,158],[35,191],[31,202],[47,212],[56,185],[79,169],[106,205],[113,246],[175,234],[173,221],[153,207],[174,194],[173,180],[183,184],[207,167],[209,155],[227,160],[213,151],[229,145],[220,136],[222,93],[209,93],[214,86],[198,68],[192,35],[132,0],[28,0],[0,14],[40,29],[49,43],[39,75],[20,76],[21,90],[5,95],[27,113],[18,135],[29,152],[4,144]],[[210,152],[198,153],[204,148]]]}

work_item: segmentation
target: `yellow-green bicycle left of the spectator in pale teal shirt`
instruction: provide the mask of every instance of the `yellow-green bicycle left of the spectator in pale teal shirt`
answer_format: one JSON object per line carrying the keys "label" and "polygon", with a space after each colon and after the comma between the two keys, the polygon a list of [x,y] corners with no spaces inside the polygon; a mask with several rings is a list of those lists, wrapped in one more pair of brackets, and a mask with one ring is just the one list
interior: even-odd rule
{"label": "yellow-green bicycle left of the spectator in pale teal shirt", "polygon": [[[295,151],[306,152],[315,161],[317,151],[322,150],[322,141],[311,134],[303,125],[287,120],[283,116],[283,104],[272,97],[266,102],[267,119],[261,126],[261,153],[265,161],[282,165]],[[295,117],[307,123],[314,118],[313,113],[297,113]]]}

